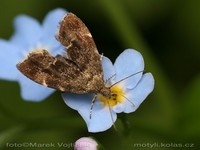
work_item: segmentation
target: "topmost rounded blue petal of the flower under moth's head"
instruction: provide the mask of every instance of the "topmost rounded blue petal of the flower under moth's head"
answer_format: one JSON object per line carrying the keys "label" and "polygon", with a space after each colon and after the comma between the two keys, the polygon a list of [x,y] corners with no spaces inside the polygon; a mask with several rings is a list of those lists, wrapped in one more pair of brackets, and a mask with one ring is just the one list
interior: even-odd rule
{"label": "topmost rounded blue petal of the flower under moth's head", "polygon": [[132,77],[123,80],[121,83],[126,83],[127,88],[134,88],[142,77],[142,72],[138,72],[144,70],[144,60],[139,52],[133,49],[127,49],[118,56],[114,63],[114,67],[116,70],[115,82],[133,75]]}

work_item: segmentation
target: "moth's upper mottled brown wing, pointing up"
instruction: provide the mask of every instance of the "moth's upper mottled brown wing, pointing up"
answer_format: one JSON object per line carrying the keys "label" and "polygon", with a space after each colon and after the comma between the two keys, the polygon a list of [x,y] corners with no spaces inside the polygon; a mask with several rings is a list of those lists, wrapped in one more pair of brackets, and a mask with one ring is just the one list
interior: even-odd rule
{"label": "moth's upper mottled brown wing, pointing up", "polygon": [[101,74],[101,60],[92,35],[85,24],[74,14],[68,13],[60,22],[56,38],[67,48],[67,58],[80,69],[95,66]]}

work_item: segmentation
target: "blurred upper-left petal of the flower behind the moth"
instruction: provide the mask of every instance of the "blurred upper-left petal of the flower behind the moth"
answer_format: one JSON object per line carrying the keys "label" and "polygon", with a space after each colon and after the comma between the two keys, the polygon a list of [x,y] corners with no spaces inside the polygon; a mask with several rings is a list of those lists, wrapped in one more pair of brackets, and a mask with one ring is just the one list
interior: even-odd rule
{"label": "blurred upper-left petal of the flower behind the moth", "polygon": [[21,48],[29,50],[33,44],[37,44],[41,35],[42,29],[39,22],[29,16],[20,15],[14,21],[15,34],[10,42],[21,46]]}

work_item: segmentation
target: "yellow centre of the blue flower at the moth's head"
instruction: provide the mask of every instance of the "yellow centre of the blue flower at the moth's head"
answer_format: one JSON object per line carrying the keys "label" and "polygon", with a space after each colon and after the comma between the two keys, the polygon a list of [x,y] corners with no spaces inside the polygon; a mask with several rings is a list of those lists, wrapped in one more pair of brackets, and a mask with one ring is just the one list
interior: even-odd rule
{"label": "yellow centre of the blue flower at the moth's head", "polygon": [[102,95],[99,97],[100,101],[104,103],[104,106],[107,106],[108,104],[110,106],[115,106],[117,103],[121,103],[124,99],[124,92],[119,86],[113,86],[110,90],[112,93],[110,98],[106,98]]}

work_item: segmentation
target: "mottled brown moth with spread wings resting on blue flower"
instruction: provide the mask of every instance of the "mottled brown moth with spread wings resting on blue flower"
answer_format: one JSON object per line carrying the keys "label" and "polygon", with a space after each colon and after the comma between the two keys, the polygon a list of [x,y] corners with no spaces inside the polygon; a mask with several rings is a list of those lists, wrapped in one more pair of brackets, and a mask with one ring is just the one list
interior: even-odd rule
{"label": "mottled brown moth with spread wings resting on blue flower", "polygon": [[110,97],[111,90],[103,80],[102,56],[85,24],[67,13],[56,38],[66,47],[65,54],[54,57],[44,49],[33,51],[17,68],[31,80],[62,92]]}

